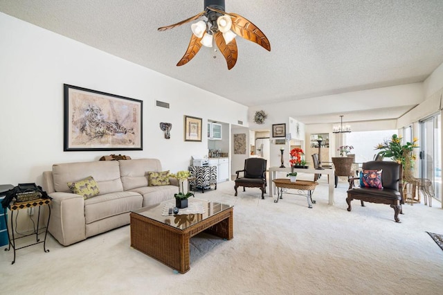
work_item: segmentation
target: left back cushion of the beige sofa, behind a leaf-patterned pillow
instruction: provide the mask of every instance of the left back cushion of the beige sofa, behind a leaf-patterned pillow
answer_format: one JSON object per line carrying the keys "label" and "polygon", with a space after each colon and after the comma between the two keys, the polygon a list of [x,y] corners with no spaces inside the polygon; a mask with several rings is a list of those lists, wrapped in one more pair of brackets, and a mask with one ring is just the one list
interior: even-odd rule
{"label": "left back cushion of the beige sofa, behind a leaf-patterned pillow", "polygon": [[[132,161],[132,160],[125,160]],[[118,161],[94,161],[53,165],[53,181],[56,192],[71,193],[68,182],[75,182],[91,175],[100,188],[100,195],[123,191]]]}

